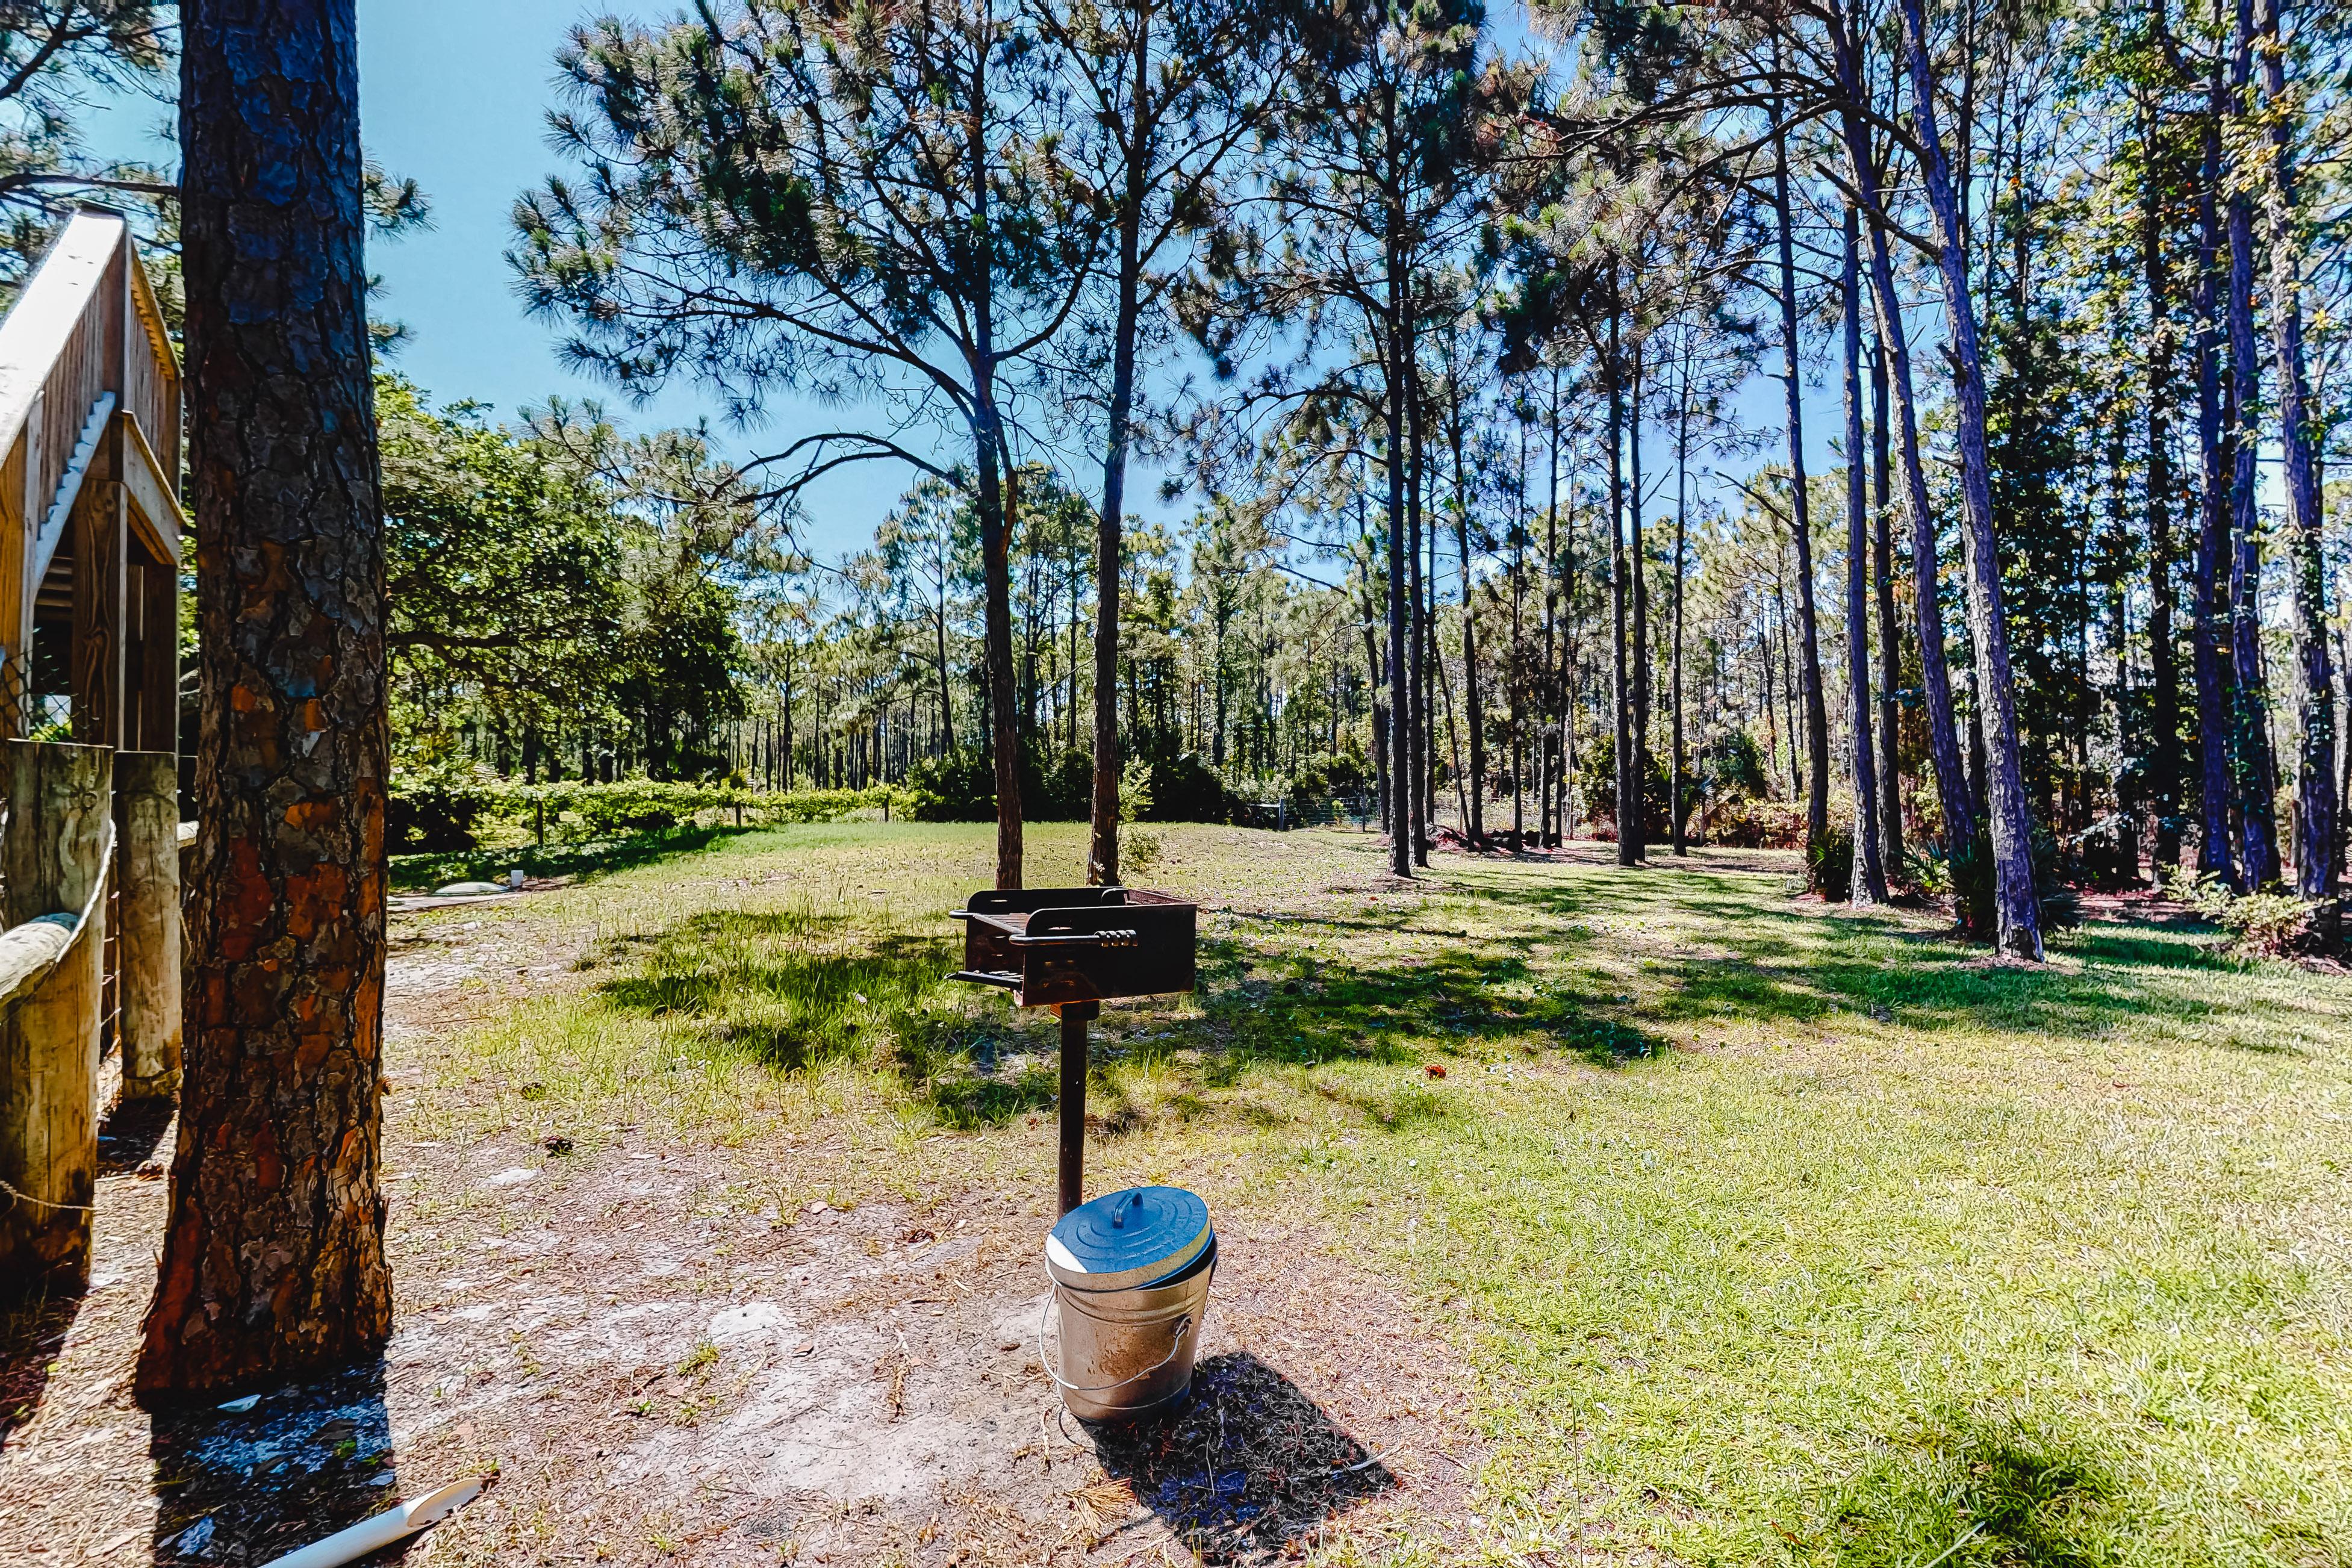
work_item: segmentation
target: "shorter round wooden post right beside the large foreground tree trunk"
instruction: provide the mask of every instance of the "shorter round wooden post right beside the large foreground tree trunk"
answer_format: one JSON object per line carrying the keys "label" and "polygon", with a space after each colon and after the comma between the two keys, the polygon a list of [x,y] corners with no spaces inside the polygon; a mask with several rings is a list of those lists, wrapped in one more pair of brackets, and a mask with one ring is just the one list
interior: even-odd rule
{"label": "shorter round wooden post right beside the large foreground tree trunk", "polygon": [[122,1098],[179,1093],[179,757],[115,752]]}

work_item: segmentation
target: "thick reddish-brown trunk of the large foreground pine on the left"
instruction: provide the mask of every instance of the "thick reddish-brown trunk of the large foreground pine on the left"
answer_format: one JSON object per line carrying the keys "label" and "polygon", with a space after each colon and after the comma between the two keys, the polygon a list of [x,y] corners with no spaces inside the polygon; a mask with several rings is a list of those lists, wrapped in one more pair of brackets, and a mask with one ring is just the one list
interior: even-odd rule
{"label": "thick reddish-brown trunk of the large foreground pine on the left", "polygon": [[353,0],[183,9],[202,698],[188,1056],[136,1392],[346,1366],[383,1262],[383,508]]}

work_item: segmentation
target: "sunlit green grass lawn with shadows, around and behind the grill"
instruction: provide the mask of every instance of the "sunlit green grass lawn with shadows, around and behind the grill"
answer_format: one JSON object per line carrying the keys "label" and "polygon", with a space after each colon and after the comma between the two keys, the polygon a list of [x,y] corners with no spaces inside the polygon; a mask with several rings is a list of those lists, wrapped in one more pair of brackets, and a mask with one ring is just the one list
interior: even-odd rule
{"label": "sunlit green grass lawn with shadows, around and behind the grill", "polygon": [[[412,1133],[666,1121],[774,1150],[779,1206],[1051,1192],[1051,1020],[941,983],[990,839],[757,832],[499,907],[581,985],[414,1065]],[[1091,1187],[1458,1307],[1491,1448],[1432,1559],[2352,1561],[2345,978],[2138,917],[1997,966],[1757,856],[1397,889],[1345,832],[1164,842],[1202,990],[1105,1016]],[[1030,882],[1082,853],[1033,827]]]}

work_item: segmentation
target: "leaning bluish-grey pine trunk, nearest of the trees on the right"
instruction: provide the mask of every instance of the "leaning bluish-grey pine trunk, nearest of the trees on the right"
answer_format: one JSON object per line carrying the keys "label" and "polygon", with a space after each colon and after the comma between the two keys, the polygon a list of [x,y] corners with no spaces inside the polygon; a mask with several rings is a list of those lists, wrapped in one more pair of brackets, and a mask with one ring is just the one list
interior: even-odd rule
{"label": "leaning bluish-grey pine trunk, nearest of the trees on the right", "polygon": [[1959,491],[1969,527],[1969,642],[1976,644],[1976,698],[1985,731],[1985,795],[1992,818],[1994,943],[2020,959],[2042,959],[2042,907],[2034,893],[2034,825],[2025,806],[2025,766],[2018,755],[2018,696],[2009,677],[2009,625],[2002,609],[2002,555],[1992,534],[1992,463],[1985,451],[1985,371],[1976,343],[1976,303],[1969,296],[1966,237],[1959,197],[1936,129],[1936,80],[1929,66],[1922,0],[1903,0],[1903,40],[1919,132],[1922,181],[1936,216],[1936,249],[1945,287],[1952,390],[1959,435]]}

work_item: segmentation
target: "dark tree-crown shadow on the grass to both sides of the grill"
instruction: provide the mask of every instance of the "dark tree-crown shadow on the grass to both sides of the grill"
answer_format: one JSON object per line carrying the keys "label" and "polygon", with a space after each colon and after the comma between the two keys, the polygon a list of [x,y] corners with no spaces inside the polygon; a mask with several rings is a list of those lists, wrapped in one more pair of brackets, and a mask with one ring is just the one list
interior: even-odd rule
{"label": "dark tree-crown shadow on the grass to both sides of the grill", "polygon": [[[995,997],[950,985],[950,936],[849,914],[706,910],[602,952],[619,973],[597,992],[644,1018],[673,1018],[713,1048],[781,1072],[861,1058],[891,1072],[946,1126],[1002,1126],[1054,1105],[1054,1023],[1016,1020]],[[1183,1119],[1223,1110],[1268,1114],[1249,1103],[1218,1107],[1254,1065],[1414,1063],[1435,1051],[1566,1051],[1592,1063],[1630,1063],[1665,1044],[1606,1016],[1569,985],[1538,983],[1512,943],[1463,943],[1432,961],[1319,971],[1272,959],[1289,978],[1251,978],[1268,957],[1235,938],[1202,940],[1195,1016],[1164,1020],[1150,1044],[1098,1041],[1103,1135],[1131,1133],[1155,1114]],[[1505,990],[1508,987],[1508,990]],[[1150,1006],[1150,1004],[1145,1004]],[[1127,1023],[1134,1023],[1129,1016]],[[1120,1067],[1183,1053],[1185,1084],[1164,1110],[1131,1105]],[[1023,1065],[1004,1063],[1021,1056]],[[1395,1091],[1329,1088],[1383,1128],[1446,1114],[1418,1084]]]}

